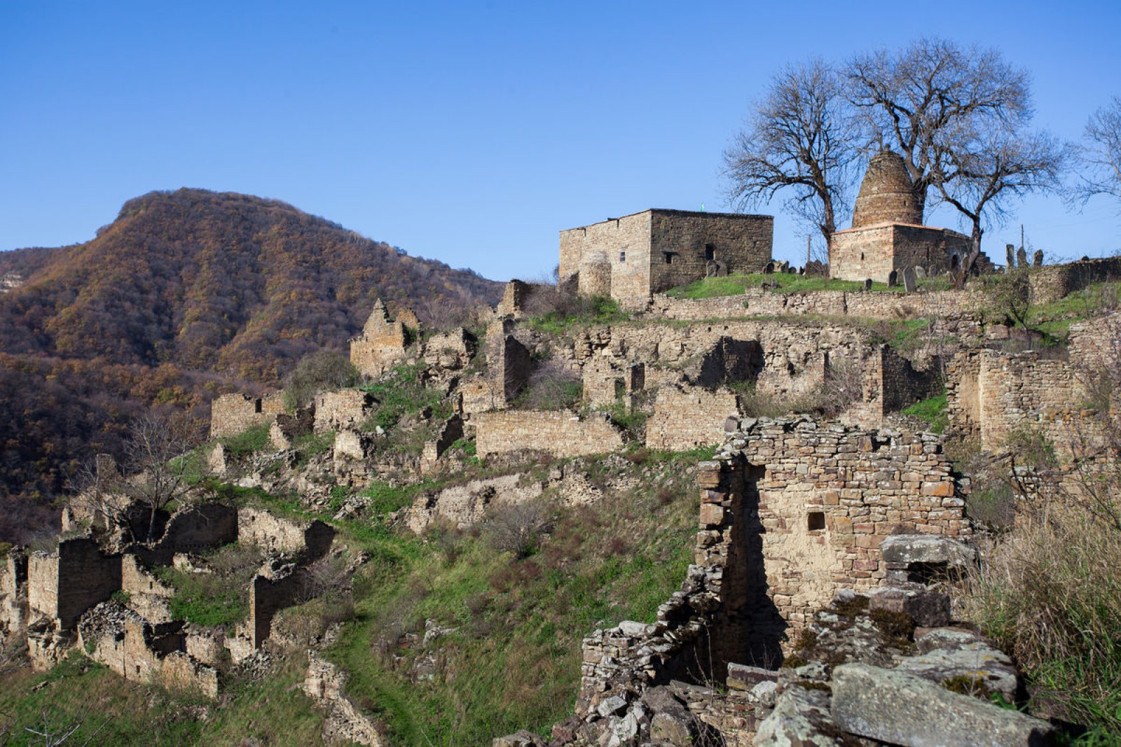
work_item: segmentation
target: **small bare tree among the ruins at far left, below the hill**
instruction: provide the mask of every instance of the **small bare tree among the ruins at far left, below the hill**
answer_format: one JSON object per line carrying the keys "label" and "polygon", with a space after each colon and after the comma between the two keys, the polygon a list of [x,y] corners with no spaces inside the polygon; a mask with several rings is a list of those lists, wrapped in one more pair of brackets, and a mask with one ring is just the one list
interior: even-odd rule
{"label": "small bare tree among the ruins at far left, below the hill", "polygon": [[159,512],[185,499],[191,492],[185,452],[194,440],[183,419],[147,414],[129,426],[124,467],[130,477],[126,491],[148,510],[148,542],[156,539]]}

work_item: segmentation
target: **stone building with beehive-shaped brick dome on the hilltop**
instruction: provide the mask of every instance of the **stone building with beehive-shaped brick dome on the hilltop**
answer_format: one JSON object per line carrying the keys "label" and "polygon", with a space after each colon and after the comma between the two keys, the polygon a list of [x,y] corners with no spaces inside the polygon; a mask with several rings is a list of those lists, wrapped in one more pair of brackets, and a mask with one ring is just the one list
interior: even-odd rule
{"label": "stone building with beehive-shaped brick dome on the hilltop", "polygon": [[830,277],[887,282],[892,271],[957,270],[970,253],[970,237],[923,225],[902,157],[881,150],[868,164],[852,215],[852,227],[833,234]]}

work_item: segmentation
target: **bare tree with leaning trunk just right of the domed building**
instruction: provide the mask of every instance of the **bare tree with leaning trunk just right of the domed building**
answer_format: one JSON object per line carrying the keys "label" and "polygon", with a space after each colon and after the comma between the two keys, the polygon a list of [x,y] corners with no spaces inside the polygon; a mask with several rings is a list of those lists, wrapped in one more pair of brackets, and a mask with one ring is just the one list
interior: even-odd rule
{"label": "bare tree with leaning trunk just right of the domed building", "polygon": [[935,143],[932,183],[942,200],[971,224],[970,255],[955,279],[964,283],[981,255],[984,224],[1008,218],[1008,198],[1054,193],[1069,158],[1068,148],[1046,132],[1023,132],[1018,123],[992,127],[965,119]]}

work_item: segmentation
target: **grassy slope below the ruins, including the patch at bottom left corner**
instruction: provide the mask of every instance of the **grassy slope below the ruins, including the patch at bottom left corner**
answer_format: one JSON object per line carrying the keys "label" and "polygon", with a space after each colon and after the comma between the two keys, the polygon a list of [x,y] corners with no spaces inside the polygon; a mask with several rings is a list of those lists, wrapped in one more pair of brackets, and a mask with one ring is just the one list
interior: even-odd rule
{"label": "grassy slope below the ruins, including the patch at bottom left corner", "polygon": [[[652,620],[684,579],[697,511],[689,468],[703,456],[585,463],[592,482],[626,471],[639,487],[591,506],[550,506],[546,539],[521,559],[497,549],[485,527],[418,538],[390,529],[383,514],[336,523],[342,543],[370,554],[354,580],[355,615],[326,652],[350,673],[351,697],[387,722],[392,744],[488,744],[527,726],[547,730],[571,712],[583,636],[622,619]],[[382,512],[415,493],[397,491],[397,499],[379,485],[364,492]],[[309,515],[289,501],[253,497]],[[429,618],[456,629],[428,650],[416,639],[401,645],[402,634],[423,636]],[[415,682],[411,665],[425,654],[442,669],[435,680]],[[53,725],[84,715],[89,735],[111,715],[94,743],[318,744],[322,716],[296,687],[305,662],[302,652],[289,654],[276,674],[234,682],[209,703],[126,683],[73,655],[46,674],[0,675],[0,730],[20,731],[46,712]],[[41,682],[50,684],[34,690]],[[27,736],[0,737],[0,745],[27,744]]]}

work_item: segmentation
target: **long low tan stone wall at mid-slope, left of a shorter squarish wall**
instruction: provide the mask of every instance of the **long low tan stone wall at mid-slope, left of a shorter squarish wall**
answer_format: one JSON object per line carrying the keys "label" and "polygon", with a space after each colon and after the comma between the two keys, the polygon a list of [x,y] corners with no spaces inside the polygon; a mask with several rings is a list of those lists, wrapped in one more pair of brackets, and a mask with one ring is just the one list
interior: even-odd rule
{"label": "long low tan stone wall at mid-slope, left of a shorter squarish wall", "polygon": [[503,410],[475,415],[479,456],[522,449],[556,457],[610,454],[622,448],[619,430],[604,415],[581,418],[573,412]]}

